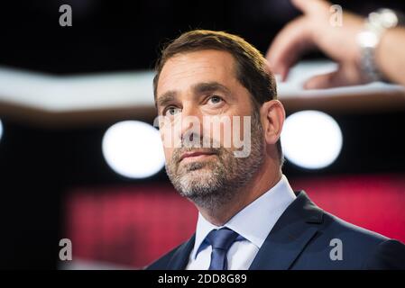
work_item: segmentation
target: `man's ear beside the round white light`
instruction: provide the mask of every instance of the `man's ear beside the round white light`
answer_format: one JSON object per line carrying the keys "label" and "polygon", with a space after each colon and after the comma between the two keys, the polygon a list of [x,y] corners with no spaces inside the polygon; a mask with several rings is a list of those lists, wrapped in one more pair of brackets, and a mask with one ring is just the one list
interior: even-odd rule
{"label": "man's ear beside the round white light", "polygon": [[262,104],[260,115],[266,143],[275,144],[280,139],[284,124],[284,107],[279,100],[271,100]]}

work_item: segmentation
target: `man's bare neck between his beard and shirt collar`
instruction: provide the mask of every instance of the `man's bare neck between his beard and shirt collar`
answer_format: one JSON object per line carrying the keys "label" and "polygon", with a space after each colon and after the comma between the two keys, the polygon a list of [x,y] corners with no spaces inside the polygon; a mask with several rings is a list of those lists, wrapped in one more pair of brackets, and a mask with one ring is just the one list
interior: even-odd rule
{"label": "man's bare neck between his beard and shirt collar", "polygon": [[281,180],[281,168],[263,165],[263,170],[235,193],[235,198],[215,209],[197,207],[202,216],[216,226],[224,225],[244,207],[269,191]]}

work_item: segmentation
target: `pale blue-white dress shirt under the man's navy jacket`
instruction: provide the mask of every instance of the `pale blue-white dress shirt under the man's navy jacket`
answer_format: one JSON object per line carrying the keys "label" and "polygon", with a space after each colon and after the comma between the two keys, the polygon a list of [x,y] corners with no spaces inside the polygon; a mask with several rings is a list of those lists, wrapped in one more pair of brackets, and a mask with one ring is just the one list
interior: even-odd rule
{"label": "pale blue-white dress shirt under the man's navy jacket", "polygon": [[196,241],[189,257],[187,270],[207,270],[211,261],[212,247],[206,237],[212,229],[227,227],[240,236],[229,248],[229,270],[247,270],[259,252],[281,214],[296,198],[285,175],[268,192],[251,202],[221,227],[207,221],[198,213]]}

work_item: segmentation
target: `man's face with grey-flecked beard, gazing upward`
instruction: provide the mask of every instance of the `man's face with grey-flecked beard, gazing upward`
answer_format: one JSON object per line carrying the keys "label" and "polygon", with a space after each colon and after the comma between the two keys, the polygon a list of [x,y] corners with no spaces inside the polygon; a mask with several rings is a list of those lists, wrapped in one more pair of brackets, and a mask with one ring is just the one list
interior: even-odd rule
{"label": "man's face with grey-flecked beard, gazing upward", "polygon": [[[192,200],[201,202],[211,196],[208,198],[212,201],[218,193],[222,193],[217,195],[222,199],[230,199],[232,194],[226,194],[226,189],[249,180],[262,164],[264,151],[259,116],[250,119],[252,96],[236,79],[235,59],[226,51],[214,49],[176,55],[162,68],[156,94],[159,115],[165,118],[161,137],[166,143],[166,171],[171,182]],[[252,125],[244,125],[244,116]],[[215,133],[207,123],[218,123],[219,118],[228,119],[230,125],[219,121],[222,132]],[[246,135],[249,139],[244,143],[249,142],[250,153],[235,157],[240,147],[233,139]],[[209,147],[203,146],[203,139],[208,139]],[[183,145],[168,145],[176,140]]]}

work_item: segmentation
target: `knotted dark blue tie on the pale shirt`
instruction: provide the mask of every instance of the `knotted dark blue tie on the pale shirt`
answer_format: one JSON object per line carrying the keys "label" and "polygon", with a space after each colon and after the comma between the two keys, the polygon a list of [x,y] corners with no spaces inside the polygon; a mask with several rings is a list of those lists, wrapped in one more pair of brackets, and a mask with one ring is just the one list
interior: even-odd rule
{"label": "knotted dark blue tie on the pale shirt", "polygon": [[226,254],[238,236],[238,233],[227,228],[209,232],[207,241],[212,246],[212,252],[208,270],[227,270]]}

